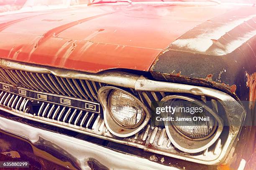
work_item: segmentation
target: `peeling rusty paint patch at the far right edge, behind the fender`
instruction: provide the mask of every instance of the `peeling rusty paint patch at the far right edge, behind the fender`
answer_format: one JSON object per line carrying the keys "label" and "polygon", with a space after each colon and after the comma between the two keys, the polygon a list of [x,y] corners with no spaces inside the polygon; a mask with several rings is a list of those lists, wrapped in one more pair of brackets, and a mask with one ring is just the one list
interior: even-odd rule
{"label": "peeling rusty paint patch at the far right edge, behind the fender", "polygon": [[246,72],[247,82],[246,85],[249,87],[249,109],[253,109],[256,101],[256,72],[252,75]]}

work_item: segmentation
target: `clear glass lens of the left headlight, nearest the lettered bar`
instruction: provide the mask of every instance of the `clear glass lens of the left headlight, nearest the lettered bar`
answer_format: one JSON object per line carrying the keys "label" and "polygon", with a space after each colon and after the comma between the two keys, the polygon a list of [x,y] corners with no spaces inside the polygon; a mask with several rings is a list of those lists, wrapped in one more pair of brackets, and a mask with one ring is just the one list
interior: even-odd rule
{"label": "clear glass lens of the left headlight, nearest the lettered bar", "polygon": [[145,117],[142,105],[129,93],[113,90],[108,99],[110,114],[124,128],[136,128]]}

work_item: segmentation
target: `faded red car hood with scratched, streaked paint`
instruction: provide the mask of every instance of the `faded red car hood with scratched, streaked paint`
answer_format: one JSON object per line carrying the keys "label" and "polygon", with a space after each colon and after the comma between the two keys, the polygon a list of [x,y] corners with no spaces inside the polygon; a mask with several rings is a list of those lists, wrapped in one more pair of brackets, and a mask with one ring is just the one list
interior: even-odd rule
{"label": "faded red car hood with scratched, streaked paint", "polygon": [[148,71],[196,25],[237,9],[225,5],[102,4],[0,16],[0,57],[85,72]]}

